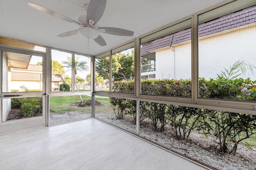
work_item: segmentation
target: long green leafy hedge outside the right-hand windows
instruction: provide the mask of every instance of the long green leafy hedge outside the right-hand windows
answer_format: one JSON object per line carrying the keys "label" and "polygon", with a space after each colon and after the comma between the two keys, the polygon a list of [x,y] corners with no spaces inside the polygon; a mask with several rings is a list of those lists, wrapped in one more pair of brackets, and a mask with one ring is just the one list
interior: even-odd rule
{"label": "long green leafy hedge outside the right-hand windows", "polygon": [[[134,81],[114,82],[114,92],[133,93]],[[191,96],[191,80],[142,80],[142,94],[157,96]],[[199,80],[201,98],[256,101],[256,81],[236,78]],[[116,117],[130,114],[136,123],[136,101],[110,98]],[[213,137],[221,152],[235,153],[238,144],[256,133],[256,115],[232,113],[194,107],[140,102],[140,121],[148,118],[154,130],[163,131],[165,125],[172,127],[174,135],[181,140],[189,138],[193,130]]]}

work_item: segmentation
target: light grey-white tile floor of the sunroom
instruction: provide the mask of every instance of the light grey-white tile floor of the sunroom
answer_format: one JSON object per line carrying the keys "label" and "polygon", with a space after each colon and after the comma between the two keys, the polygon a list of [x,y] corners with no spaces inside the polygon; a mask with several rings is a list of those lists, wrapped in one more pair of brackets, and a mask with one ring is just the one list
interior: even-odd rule
{"label": "light grey-white tile floor of the sunroom", "polygon": [[201,170],[97,119],[0,135],[0,170]]}

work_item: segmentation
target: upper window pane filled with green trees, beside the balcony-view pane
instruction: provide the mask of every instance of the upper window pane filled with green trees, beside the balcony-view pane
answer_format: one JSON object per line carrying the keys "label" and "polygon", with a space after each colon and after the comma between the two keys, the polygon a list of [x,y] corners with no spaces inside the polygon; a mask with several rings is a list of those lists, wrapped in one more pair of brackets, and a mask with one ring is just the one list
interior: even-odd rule
{"label": "upper window pane filled with green trees, beside the balcony-view pane", "polygon": [[112,92],[134,94],[134,47],[112,54]]}

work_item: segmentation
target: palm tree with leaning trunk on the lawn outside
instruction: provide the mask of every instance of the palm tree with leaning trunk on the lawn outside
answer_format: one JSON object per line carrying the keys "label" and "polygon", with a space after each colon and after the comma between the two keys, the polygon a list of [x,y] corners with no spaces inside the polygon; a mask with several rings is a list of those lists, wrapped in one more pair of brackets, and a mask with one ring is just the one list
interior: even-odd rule
{"label": "palm tree with leaning trunk on the lawn outside", "polygon": [[[89,67],[87,66],[87,62],[86,61],[79,61],[79,59],[80,59],[79,56],[76,57],[75,67],[74,67],[74,72],[75,72],[74,80],[75,80],[75,86],[76,86],[76,91],[77,92],[79,91],[78,84],[76,82],[77,71],[88,71],[89,70]],[[68,68],[67,71],[72,70],[72,58],[71,57],[67,57],[67,61],[62,61],[62,64],[65,64],[63,67]],[[82,97],[80,95],[79,95],[79,97],[80,97],[81,102],[83,102]]]}

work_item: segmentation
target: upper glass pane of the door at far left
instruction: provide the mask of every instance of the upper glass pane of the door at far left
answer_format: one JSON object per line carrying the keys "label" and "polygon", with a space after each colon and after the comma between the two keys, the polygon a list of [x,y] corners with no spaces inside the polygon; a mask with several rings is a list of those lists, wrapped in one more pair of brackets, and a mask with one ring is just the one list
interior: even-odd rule
{"label": "upper glass pane of the door at far left", "polygon": [[2,52],[2,92],[42,92],[43,57]]}

